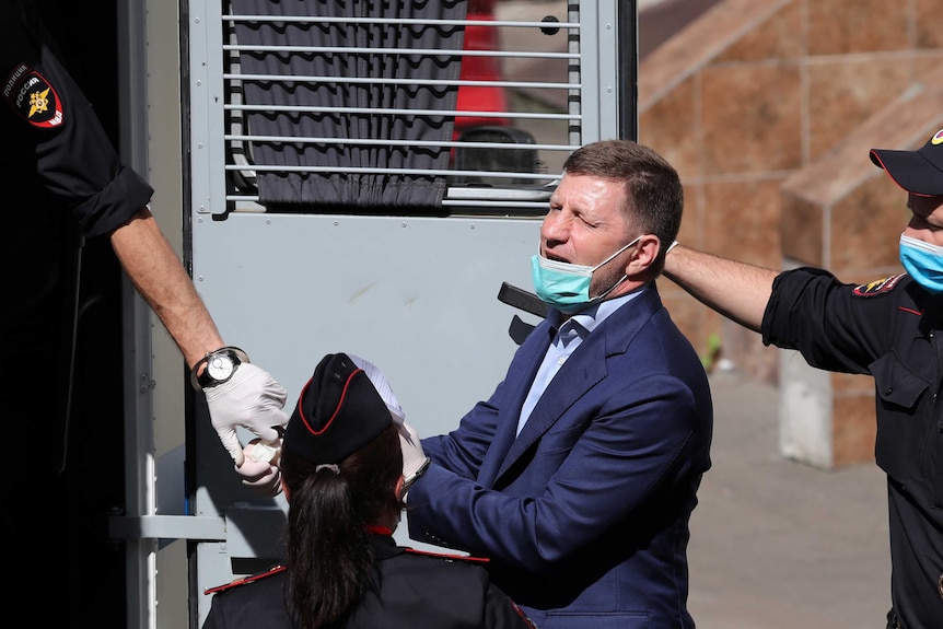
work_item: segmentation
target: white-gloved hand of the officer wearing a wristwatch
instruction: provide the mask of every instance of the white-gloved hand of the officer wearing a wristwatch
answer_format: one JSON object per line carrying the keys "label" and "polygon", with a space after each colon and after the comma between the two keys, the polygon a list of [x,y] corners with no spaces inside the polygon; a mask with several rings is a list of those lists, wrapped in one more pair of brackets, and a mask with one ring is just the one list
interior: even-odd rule
{"label": "white-gloved hand of the officer wearing a wristwatch", "polygon": [[229,381],[205,388],[203,394],[213,428],[237,468],[245,461],[235,432],[237,426],[267,444],[280,444],[276,427],[288,423],[289,416],[282,410],[288,394],[267,371],[244,362]]}

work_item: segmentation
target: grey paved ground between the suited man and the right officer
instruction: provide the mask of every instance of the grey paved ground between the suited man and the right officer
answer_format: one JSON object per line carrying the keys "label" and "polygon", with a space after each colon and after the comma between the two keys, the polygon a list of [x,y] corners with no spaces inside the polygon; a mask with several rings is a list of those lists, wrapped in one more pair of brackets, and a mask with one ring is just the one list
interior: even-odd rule
{"label": "grey paved ground between the suited man and the right officer", "polygon": [[883,628],[887,499],[874,464],[823,471],[777,452],[776,388],[711,376],[713,468],[691,521],[698,629]]}

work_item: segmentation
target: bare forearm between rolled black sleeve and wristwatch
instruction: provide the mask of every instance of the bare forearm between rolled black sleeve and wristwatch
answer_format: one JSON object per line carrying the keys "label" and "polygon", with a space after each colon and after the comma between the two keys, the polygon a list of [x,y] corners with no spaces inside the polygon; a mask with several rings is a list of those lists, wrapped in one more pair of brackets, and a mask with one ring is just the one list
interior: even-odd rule
{"label": "bare forearm between rolled black sleeve and wristwatch", "polygon": [[224,345],[190,277],[149,210],[142,209],[115,230],[112,246],[188,365]]}

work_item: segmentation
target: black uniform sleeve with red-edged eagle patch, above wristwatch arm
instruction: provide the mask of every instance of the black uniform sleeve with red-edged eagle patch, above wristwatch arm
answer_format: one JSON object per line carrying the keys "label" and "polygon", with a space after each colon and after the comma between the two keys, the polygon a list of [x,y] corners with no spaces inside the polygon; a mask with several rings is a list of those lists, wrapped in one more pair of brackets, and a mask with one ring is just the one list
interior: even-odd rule
{"label": "black uniform sleeve with red-edged eagle patch, above wristwatch arm", "polygon": [[30,162],[85,235],[108,233],[147,206],[153,189],[121,164],[30,4],[0,2],[0,162]]}

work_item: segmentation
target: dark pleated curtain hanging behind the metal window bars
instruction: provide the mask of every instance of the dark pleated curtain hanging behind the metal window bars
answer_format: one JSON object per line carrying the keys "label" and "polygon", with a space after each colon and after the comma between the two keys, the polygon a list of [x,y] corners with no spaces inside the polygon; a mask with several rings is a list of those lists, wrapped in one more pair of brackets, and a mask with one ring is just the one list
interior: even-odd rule
{"label": "dark pleated curtain hanging behind the metal window bars", "polygon": [[[461,25],[384,24],[380,19],[463,20],[465,0],[232,0],[235,15],[310,15],[360,19],[291,23],[238,21],[240,46],[370,48],[372,51],[240,53],[243,74],[278,74],[279,80],[243,79],[247,105],[345,107],[340,113],[248,112],[253,136],[325,138],[323,142],[252,141],[255,164],[329,167],[330,172],[257,172],[259,202],[269,210],[399,213],[438,211],[444,175],[356,173],[351,168],[443,170],[454,116],[383,113],[377,109],[454,110],[456,85],[416,84],[408,80],[455,81],[461,55],[423,50],[461,50]],[[398,50],[398,51],[397,51]],[[416,53],[410,53],[416,50]],[[293,81],[290,75],[326,77]],[[336,78],[336,80],[335,80]],[[368,79],[345,82],[345,79]],[[383,80],[407,80],[384,83]],[[351,143],[330,140],[352,140]],[[357,140],[407,140],[409,145],[358,143]],[[430,147],[415,142],[433,142]],[[249,166],[252,167],[252,166]]]}

